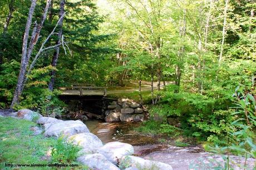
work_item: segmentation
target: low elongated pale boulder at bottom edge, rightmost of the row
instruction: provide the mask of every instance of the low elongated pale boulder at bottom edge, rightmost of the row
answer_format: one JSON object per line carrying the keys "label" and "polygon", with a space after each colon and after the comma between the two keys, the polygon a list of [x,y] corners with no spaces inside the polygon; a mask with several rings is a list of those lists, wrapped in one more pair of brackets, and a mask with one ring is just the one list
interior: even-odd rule
{"label": "low elongated pale boulder at bottom edge, rightmost of the row", "polygon": [[126,166],[130,166],[138,169],[159,169],[159,170],[172,170],[169,164],[158,162],[158,161],[150,161],[136,156],[124,156],[120,159],[120,164],[125,164]]}

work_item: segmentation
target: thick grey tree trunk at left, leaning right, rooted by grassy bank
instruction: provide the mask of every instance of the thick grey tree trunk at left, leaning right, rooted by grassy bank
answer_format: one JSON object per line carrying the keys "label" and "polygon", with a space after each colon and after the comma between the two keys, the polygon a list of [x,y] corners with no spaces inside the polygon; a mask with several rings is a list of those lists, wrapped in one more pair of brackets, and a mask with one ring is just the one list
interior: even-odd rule
{"label": "thick grey tree trunk at left, leaning right, rooted by grassy bank", "polygon": [[28,13],[27,24],[26,24],[24,35],[23,35],[21,68],[19,69],[18,83],[16,85],[16,89],[15,89],[15,92],[14,92],[14,95],[13,95],[11,108],[13,107],[14,104],[17,104],[17,102],[19,100],[19,94],[21,94],[23,78],[24,78],[24,75],[26,73],[26,64],[25,64],[25,62],[26,62],[26,56],[27,56],[28,35],[29,35],[30,27],[31,27],[33,13],[34,13],[35,7],[36,7],[36,1],[37,0],[32,0],[31,1],[31,7],[30,7],[29,13]]}

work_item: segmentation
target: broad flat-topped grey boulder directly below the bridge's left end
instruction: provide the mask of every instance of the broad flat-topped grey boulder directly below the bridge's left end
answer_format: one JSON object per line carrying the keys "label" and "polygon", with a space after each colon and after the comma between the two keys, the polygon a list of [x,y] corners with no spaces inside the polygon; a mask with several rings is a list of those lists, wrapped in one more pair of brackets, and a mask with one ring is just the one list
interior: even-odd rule
{"label": "broad flat-topped grey boulder directly below the bridge's left end", "polygon": [[45,125],[45,136],[72,136],[78,133],[90,132],[83,122],[76,120],[67,120],[56,123],[46,123]]}

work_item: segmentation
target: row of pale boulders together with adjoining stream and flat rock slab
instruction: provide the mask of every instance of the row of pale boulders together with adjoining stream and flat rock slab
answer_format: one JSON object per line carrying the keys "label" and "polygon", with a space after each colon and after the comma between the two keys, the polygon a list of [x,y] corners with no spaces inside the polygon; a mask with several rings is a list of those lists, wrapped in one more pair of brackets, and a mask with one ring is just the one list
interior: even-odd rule
{"label": "row of pale boulders together with adjoining stream and flat rock slab", "polygon": [[[176,147],[160,143],[158,138],[134,131],[140,122],[104,122],[99,120],[63,121],[40,114],[36,121],[44,130],[31,129],[36,135],[58,137],[82,146],[77,161],[92,169],[224,169],[223,156],[205,152],[200,146]],[[11,114],[16,119],[33,120],[35,112],[20,110]],[[254,169],[255,159],[230,156],[233,169]],[[214,168],[215,167],[215,168]],[[218,167],[218,168],[217,168]]]}

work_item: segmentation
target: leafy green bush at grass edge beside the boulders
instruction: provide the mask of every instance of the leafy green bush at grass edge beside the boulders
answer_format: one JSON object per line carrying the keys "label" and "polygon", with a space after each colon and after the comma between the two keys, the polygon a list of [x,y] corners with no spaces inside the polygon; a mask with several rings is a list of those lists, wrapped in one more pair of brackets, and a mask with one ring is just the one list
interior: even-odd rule
{"label": "leafy green bush at grass edge beside the boulders", "polygon": [[53,146],[51,156],[52,163],[70,164],[76,161],[80,147],[67,142],[63,137],[58,138],[57,143]]}

